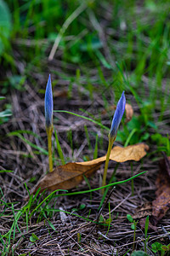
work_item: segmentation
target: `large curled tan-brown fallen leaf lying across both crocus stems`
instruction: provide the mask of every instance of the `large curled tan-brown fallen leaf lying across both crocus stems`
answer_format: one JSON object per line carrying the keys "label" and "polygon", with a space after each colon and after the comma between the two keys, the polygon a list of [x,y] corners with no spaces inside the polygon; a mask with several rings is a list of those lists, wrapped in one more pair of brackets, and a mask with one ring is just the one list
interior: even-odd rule
{"label": "large curled tan-brown fallen leaf lying across both crocus stems", "polygon": [[[140,160],[146,154],[145,150],[149,147],[144,144],[136,144],[126,148],[115,147],[111,150],[111,160],[116,162],[124,162],[127,160]],[[64,166],[57,166],[53,172],[49,172],[45,177],[42,177],[32,194],[41,188],[40,193],[48,189],[73,189],[82,182],[83,176],[90,177],[99,169],[99,166],[105,161],[106,155],[88,162],[68,163]]]}

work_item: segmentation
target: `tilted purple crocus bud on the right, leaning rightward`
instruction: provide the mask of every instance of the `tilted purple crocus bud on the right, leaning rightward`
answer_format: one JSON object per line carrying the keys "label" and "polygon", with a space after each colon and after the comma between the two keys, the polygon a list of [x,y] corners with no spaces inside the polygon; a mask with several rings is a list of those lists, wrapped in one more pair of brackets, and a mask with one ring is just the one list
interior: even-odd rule
{"label": "tilted purple crocus bud on the right, leaning rightward", "polygon": [[111,137],[112,140],[116,139],[117,130],[121,123],[122,115],[125,111],[125,105],[126,105],[126,98],[123,91],[122,96],[116,105],[116,111],[111,123],[111,131],[109,133],[109,137]]}

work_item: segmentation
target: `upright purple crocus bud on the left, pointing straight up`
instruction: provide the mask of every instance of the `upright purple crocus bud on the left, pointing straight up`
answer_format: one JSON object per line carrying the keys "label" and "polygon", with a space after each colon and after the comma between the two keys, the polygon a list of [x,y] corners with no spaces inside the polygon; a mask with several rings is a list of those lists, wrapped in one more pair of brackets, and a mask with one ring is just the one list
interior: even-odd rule
{"label": "upright purple crocus bud on the left, pointing straight up", "polygon": [[47,128],[53,126],[53,105],[53,92],[51,85],[51,77],[49,74],[48,84],[46,86],[45,91],[45,124]]}

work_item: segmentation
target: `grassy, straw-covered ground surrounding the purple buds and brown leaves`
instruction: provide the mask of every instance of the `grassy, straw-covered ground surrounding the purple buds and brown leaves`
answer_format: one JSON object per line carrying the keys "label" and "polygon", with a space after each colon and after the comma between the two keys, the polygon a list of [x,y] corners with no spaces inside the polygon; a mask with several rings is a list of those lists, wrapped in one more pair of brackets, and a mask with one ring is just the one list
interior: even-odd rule
{"label": "grassy, straw-covered ground surrounding the purple buds and brown leaves", "polygon": [[[157,234],[148,231],[150,239],[144,244],[138,225],[135,237],[139,241],[133,243],[126,216],[133,215],[139,203],[154,200],[156,160],[162,151],[170,155],[169,1],[5,2],[0,5],[0,14],[8,17],[8,34],[0,35],[2,255],[48,255],[50,242],[59,255],[99,255],[105,250],[130,255],[134,247],[151,250],[160,239],[167,246],[161,228]],[[48,166],[43,110],[48,73],[54,90],[54,165],[105,154],[111,106],[122,90],[133,106],[133,119],[125,124],[123,118],[116,144],[145,142],[150,154],[133,166],[111,164],[108,194],[103,198],[97,190],[103,169],[71,192],[29,195]],[[150,172],[134,183],[120,184],[108,199],[111,183],[126,180],[132,172],[137,175],[139,170]],[[96,226],[99,209],[104,217],[100,216],[102,223]],[[61,212],[66,222],[61,221]],[[169,231],[168,215],[161,224]],[[154,249],[159,255],[161,249]]]}

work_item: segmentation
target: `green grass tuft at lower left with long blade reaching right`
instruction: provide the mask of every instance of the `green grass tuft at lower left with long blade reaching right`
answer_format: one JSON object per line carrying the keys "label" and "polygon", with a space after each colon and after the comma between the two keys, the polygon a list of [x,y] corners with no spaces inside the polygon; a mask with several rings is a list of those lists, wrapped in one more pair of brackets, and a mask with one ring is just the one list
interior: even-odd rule
{"label": "green grass tuft at lower left with long blade reaching right", "polygon": [[[115,185],[118,185],[121,183],[126,183],[128,180],[132,180],[133,178],[138,177],[139,175],[142,175],[142,174],[144,174],[144,172],[139,173],[138,175],[136,175],[134,177],[130,177],[127,180],[119,181],[116,183],[110,183],[109,185],[105,185],[104,187],[97,188],[97,189],[89,189],[86,191],[78,191],[78,192],[66,193],[66,194],[60,194],[60,195],[55,195],[56,192],[59,192],[59,189],[54,190],[54,192],[52,192],[51,194],[46,196],[43,200],[40,200],[40,198],[42,197],[42,195],[44,195],[44,193],[42,193],[42,195],[38,195],[40,189],[37,190],[36,195],[31,195],[28,190],[29,201],[19,211],[14,211],[14,203],[11,203],[8,205],[7,203],[5,203],[5,201],[0,200],[1,203],[3,203],[3,205],[6,207],[6,209],[2,212],[3,217],[6,216],[6,218],[8,218],[8,214],[7,215],[5,214],[8,211],[11,211],[11,213],[13,213],[13,215],[14,215],[14,222],[13,222],[10,230],[8,230],[7,233],[5,233],[3,236],[1,236],[1,241],[3,243],[3,251],[1,250],[2,255],[6,255],[8,253],[14,253],[13,249],[10,252],[10,243],[16,239],[17,235],[20,234],[23,238],[25,238],[25,235],[20,231],[20,228],[18,225],[18,223],[20,222],[20,218],[22,219],[22,221],[24,221],[26,223],[26,231],[24,233],[28,232],[28,229],[29,229],[28,225],[29,225],[29,222],[31,222],[31,218],[33,216],[34,216],[34,218],[37,218],[37,223],[39,223],[42,221],[42,218],[44,218],[44,217],[48,220],[48,218],[50,218],[50,212],[52,212],[52,213],[65,212],[65,213],[71,214],[73,216],[76,216],[77,218],[85,219],[88,222],[93,222],[94,224],[98,224],[98,221],[96,222],[95,220],[92,220],[89,218],[84,218],[83,216],[79,216],[73,212],[66,212],[66,211],[62,211],[60,209],[51,208],[52,206],[50,205],[50,201],[53,201],[54,198],[56,198],[58,196],[68,196],[68,195],[75,196],[75,195],[91,193],[91,192],[97,191],[99,189],[104,189],[104,188],[115,186]],[[65,190],[60,190],[60,191],[65,192]],[[32,210],[32,208],[33,208],[33,210]],[[48,220],[48,223],[50,223],[49,220]],[[52,229],[54,229],[53,224],[50,223],[49,225]],[[108,229],[109,229],[111,223],[109,223],[109,225],[108,224],[104,224],[104,225],[108,226]]]}

